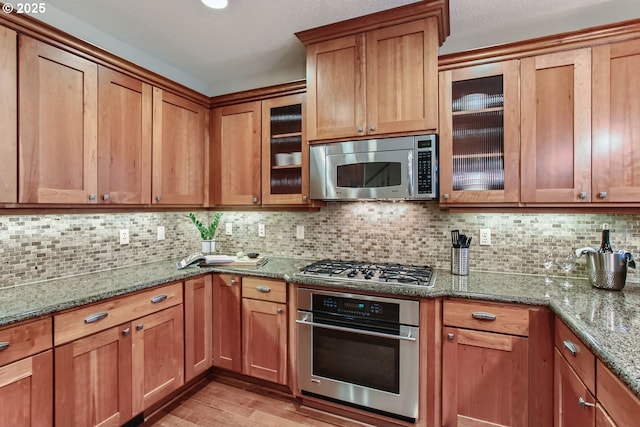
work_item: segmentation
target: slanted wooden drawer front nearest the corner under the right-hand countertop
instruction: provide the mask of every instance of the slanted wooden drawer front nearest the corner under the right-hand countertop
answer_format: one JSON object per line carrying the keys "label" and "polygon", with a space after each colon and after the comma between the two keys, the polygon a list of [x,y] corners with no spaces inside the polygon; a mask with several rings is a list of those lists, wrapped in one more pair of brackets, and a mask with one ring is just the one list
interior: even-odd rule
{"label": "slanted wooden drawer front nearest the corner under the right-hand countertop", "polygon": [[571,332],[564,322],[556,317],[554,344],[560,354],[578,374],[592,394],[596,394],[596,357]]}

